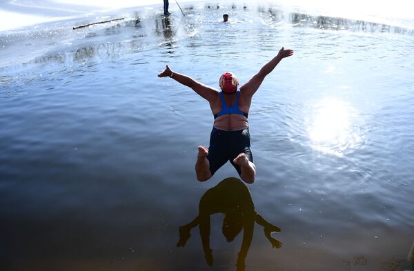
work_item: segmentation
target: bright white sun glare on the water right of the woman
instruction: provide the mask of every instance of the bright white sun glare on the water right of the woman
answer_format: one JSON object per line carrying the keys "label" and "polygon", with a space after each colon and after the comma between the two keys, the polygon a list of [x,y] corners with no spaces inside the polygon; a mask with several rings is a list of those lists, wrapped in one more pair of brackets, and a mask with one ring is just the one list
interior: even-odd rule
{"label": "bright white sun glare on the water right of the woman", "polygon": [[355,109],[344,101],[323,99],[314,106],[308,119],[308,136],[312,148],[342,157],[348,148],[362,141],[359,128],[353,123]]}

